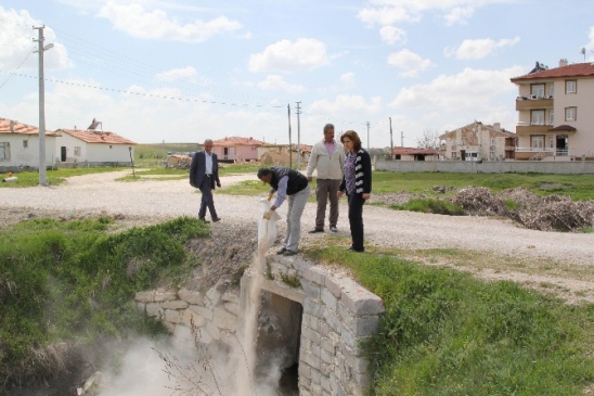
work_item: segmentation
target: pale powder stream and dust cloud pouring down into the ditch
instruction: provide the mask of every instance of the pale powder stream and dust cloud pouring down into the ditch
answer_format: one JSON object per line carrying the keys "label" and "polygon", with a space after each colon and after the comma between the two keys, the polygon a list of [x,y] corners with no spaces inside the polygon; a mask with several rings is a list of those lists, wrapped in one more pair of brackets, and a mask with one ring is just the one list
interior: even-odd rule
{"label": "pale powder stream and dust cloud pouring down into the ditch", "polygon": [[[268,200],[260,203],[262,210],[270,207]],[[188,330],[188,334],[167,341],[138,340],[121,352],[124,356],[117,368],[103,374],[99,396],[279,395],[279,365],[268,362],[266,374],[258,372],[258,378],[255,378],[266,252],[274,244],[279,219],[280,216],[273,212],[270,220],[259,220],[257,254],[248,269],[251,276],[249,302],[244,312],[243,329],[232,350],[212,345],[206,348],[195,341],[196,330],[194,334]]]}

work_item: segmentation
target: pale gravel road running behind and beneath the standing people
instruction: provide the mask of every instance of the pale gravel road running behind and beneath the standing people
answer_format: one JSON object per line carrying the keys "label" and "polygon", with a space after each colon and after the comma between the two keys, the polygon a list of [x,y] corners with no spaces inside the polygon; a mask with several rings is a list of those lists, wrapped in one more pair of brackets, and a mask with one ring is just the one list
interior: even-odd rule
{"label": "pale gravel road running behind and beneath the standing people", "polygon": [[[29,213],[60,213],[64,217],[105,213],[124,215],[139,222],[197,214],[199,193],[186,180],[114,181],[130,173],[124,170],[79,176],[57,187],[0,189],[0,222],[23,219]],[[240,180],[254,179],[255,175],[228,176],[221,178],[221,183],[224,188]],[[266,192],[267,188],[262,186],[262,196]],[[233,222],[256,225],[258,199],[215,192],[215,205],[223,219],[215,226],[224,227]],[[280,208],[282,216],[285,209],[283,206]],[[341,234],[349,235],[346,213],[346,201],[341,200],[338,229]],[[314,217],[315,205],[308,203],[302,217],[304,244],[320,238],[307,233],[313,228]],[[534,231],[522,229],[509,220],[395,212],[378,206],[365,206],[363,218],[366,240],[377,246],[450,247],[546,257],[571,265],[594,264],[594,234]],[[284,227],[284,222],[281,227]]]}

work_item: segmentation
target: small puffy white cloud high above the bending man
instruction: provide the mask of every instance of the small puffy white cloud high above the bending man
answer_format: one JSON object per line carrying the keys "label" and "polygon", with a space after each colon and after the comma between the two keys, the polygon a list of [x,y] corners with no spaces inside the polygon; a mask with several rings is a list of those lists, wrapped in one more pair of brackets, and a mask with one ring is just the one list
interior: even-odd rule
{"label": "small puffy white cloud high above the bending man", "polygon": [[326,46],[315,39],[281,40],[249,58],[250,72],[312,71],[330,63]]}

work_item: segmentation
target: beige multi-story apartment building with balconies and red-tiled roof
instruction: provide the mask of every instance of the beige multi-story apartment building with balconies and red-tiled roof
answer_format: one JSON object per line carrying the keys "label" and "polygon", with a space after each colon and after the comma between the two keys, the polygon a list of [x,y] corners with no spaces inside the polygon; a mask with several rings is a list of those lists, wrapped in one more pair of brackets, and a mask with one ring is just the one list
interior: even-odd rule
{"label": "beige multi-story apartment building with balconies and red-tiled roof", "polygon": [[518,86],[516,159],[594,157],[594,64],[535,67],[512,78]]}

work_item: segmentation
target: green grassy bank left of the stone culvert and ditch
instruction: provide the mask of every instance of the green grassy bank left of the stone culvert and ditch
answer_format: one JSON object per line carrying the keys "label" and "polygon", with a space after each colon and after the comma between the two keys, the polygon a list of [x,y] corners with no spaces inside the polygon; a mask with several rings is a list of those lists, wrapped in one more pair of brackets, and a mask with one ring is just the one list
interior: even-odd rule
{"label": "green grassy bank left of the stone culvert and ditch", "polygon": [[184,244],[209,229],[181,217],[113,234],[112,221],[33,219],[0,230],[0,378],[8,383],[41,370],[31,347],[163,331],[138,310],[134,293],[179,282],[198,266]]}

